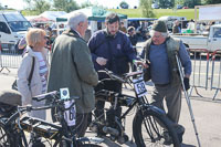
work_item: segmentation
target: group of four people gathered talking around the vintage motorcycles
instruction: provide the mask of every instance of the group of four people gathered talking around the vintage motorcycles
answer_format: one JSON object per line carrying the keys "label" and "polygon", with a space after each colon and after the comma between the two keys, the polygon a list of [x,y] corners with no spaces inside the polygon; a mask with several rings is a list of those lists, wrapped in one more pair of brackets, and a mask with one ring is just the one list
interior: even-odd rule
{"label": "group of four people gathered talking around the vintage motorcycles", "polygon": [[[98,71],[107,69],[120,75],[129,72],[128,63],[136,62],[144,69],[150,69],[151,81],[155,84],[152,105],[164,109],[162,101],[166,99],[168,117],[181,129],[181,135],[185,133],[185,128],[178,124],[181,91],[183,90],[181,81],[185,82],[185,90],[188,90],[191,62],[183,43],[169,35],[165,22],[154,23],[150,39],[146,41],[140,56],[136,48],[133,48],[138,41],[135,28],[124,28],[124,32],[120,31],[124,24],[120,25],[116,13],[106,17],[105,29],[95,32],[88,42],[84,40],[88,25],[84,13],[73,13],[67,25],[69,29],[53,42],[50,66],[44,49],[48,41],[46,31],[43,29],[29,30],[25,38],[27,51],[18,70],[18,87],[23,105],[43,105],[43,103],[32,102],[31,97],[67,87],[70,95],[80,97],[76,99],[76,124],[73,127],[80,126],[76,134],[82,137],[86,132],[91,112],[95,111],[97,116],[104,113],[105,102],[96,101],[94,91],[108,90],[122,93],[119,82],[106,81],[98,84],[98,80],[106,78],[106,75]],[[176,54],[180,57],[185,69],[183,80],[178,73]],[[150,65],[139,60],[140,57],[149,61]],[[34,66],[33,71],[32,66]],[[33,76],[29,82],[31,71]],[[120,113],[122,108],[117,106],[117,113],[113,115],[119,116]],[[30,115],[45,119],[45,112]]]}

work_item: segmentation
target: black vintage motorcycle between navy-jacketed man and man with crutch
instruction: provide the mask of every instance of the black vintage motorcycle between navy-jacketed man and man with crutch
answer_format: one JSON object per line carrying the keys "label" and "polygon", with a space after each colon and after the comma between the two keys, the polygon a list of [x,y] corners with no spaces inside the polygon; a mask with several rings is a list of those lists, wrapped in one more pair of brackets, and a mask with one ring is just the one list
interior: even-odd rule
{"label": "black vintage motorcycle between navy-jacketed man and man with crutch", "polygon": [[[131,87],[135,96],[106,90],[96,92],[96,99],[109,102],[112,105],[109,108],[103,109],[105,113],[98,117],[94,115],[95,119],[90,125],[92,132],[97,133],[98,136],[108,135],[113,141],[117,140],[119,144],[126,143],[129,137],[125,133],[125,124],[123,125],[123,122],[134,108],[137,108],[133,119],[133,136],[138,147],[166,146],[168,145],[168,139],[172,141],[171,145],[175,147],[180,146],[173,123],[162,109],[148,103],[143,71],[127,73],[123,76],[118,76],[107,70],[103,72],[109,76],[109,78],[103,81],[115,80],[126,83]],[[116,114],[117,105],[127,107],[119,117],[114,115]]]}

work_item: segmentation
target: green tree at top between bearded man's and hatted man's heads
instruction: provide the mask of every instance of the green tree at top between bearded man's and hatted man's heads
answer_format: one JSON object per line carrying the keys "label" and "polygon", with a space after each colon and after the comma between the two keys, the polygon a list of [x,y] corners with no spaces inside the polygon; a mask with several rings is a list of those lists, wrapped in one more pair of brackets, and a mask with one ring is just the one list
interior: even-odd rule
{"label": "green tree at top between bearded man's and hatted man's heads", "polygon": [[139,0],[139,8],[144,18],[154,18],[155,13],[151,9],[151,0]]}

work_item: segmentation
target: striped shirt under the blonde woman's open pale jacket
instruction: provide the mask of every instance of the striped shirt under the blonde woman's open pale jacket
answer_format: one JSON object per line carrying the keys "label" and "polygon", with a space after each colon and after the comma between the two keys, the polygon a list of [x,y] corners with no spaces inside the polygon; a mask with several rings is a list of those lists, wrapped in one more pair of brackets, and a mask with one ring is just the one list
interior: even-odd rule
{"label": "striped shirt under the blonde woman's open pale jacket", "polygon": [[46,75],[48,75],[48,66],[43,59],[43,55],[41,52],[34,52],[35,56],[39,60],[39,74],[41,76],[42,82],[42,94],[46,93]]}

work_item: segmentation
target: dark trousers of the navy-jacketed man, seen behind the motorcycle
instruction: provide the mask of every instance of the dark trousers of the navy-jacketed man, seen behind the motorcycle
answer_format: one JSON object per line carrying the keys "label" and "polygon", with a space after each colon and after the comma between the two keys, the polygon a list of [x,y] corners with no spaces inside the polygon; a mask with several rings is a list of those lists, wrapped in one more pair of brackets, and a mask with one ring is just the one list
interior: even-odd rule
{"label": "dark trousers of the navy-jacketed man, seen behind the motorcycle", "polygon": [[[113,91],[113,92],[116,92],[116,93],[122,93],[122,83],[119,83],[117,81],[105,81],[104,83],[98,84],[95,87],[95,92],[98,92],[101,90],[107,90],[107,91]],[[97,101],[96,102],[95,111],[94,111],[96,117],[104,114],[104,106],[105,106],[104,101]],[[115,114],[115,115],[117,115],[119,117],[120,114],[122,114],[122,108],[119,106],[117,106],[116,112],[117,112],[117,114]]]}

